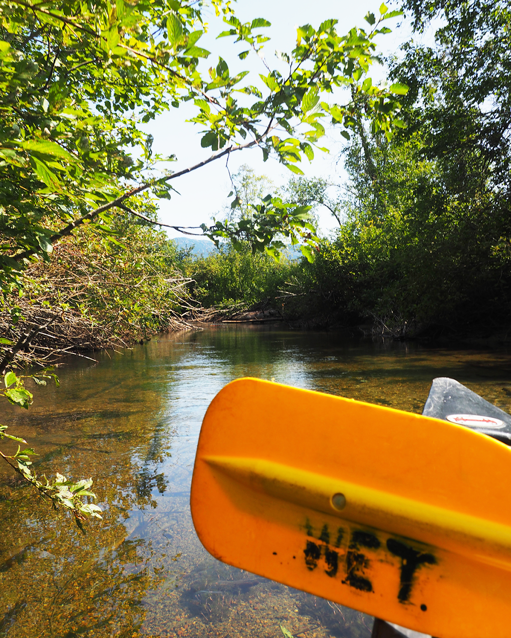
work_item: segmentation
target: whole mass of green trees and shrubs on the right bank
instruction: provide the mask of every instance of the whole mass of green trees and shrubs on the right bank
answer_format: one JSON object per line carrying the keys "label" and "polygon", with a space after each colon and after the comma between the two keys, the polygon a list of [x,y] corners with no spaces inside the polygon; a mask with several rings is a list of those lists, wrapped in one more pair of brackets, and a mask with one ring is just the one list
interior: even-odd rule
{"label": "whole mass of green trees and shrubs on the right bank", "polygon": [[[511,314],[511,11],[493,0],[406,0],[415,26],[389,77],[407,85],[392,139],[356,119],[339,232],[290,302],[379,333],[501,335]],[[416,34],[435,24],[435,41]],[[354,101],[363,103],[355,94]],[[360,112],[360,110],[358,111]],[[298,182],[300,201],[326,186]],[[328,204],[328,202],[327,202]],[[312,291],[312,292],[311,292]],[[303,295],[298,299],[298,295]],[[316,295],[314,300],[311,295]],[[333,317],[333,318],[332,318]]]}

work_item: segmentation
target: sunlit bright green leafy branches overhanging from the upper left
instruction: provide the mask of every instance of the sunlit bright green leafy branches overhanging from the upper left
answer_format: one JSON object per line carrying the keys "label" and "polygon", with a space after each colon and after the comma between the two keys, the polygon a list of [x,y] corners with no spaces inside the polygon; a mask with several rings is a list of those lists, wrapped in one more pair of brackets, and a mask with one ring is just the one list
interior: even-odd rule
{"label": "sunlit bright green leafy branches overhanging from the upper left", "polygon": [[[243,59],[259,51],[264,27],[241,24],[230,2],[212,0],[227,30],[247,44]],[[231,76],[220,58],[207,77],[199,59],[204,33],[201,3],[188,0],[125,0],[33,3],[0,1],[0,254],[3,292],[20,287],[20,273],[34,258],[48,259],[52,245],[88,224],[116,241],[112,218],[119,211],[155,219],[155,200],[170,197],[174,180],[205,163],[259,146],[300,173],[324,133],[321,119],[344,128],[355,122],[355,103],[327,103],[324,95],[353,86],[363,96],[373,126],[387,134],[403,93],[399,83],[383,90],[367,74],[374,36],[383,20],[399,14],[381,5],[370,30],[340,36],[337,20],[298,29],[289,73],[267,68],[266,91],[244,85],[246,71]],[[162,159],[152,152],[143,124],[183,101],[194,101],[193,121],[203,127],[202,147],[211,158],[181,172],[155,174]],[[305,129],[305,130],[304,130]],[[300,131],[303,131],[301,133]],[[347,135],[347,133],[346,133]],[[278,249],[276,235],[310,242],[307,209],[264,206],[254,227],[204,226],[212,237],[249,237],[254,249]]]}

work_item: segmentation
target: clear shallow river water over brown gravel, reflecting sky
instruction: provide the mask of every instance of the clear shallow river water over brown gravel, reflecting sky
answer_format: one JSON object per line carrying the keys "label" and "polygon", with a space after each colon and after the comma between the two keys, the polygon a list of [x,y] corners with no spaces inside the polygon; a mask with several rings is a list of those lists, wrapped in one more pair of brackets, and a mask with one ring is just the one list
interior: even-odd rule
{"label": "clear shallow river water over brown gravel, reflecting sky", "polygon": [[[356,341],[275,327],[211,327],[58,371],[3,424],[39,474],[94,477],[103,521],[72,517],[2,468],[0,637],[369,638],[372,619],[211,558],[190,481],[202,417],[226,383],[255,376],[421,412],[435,376],[511,411],[511,353]],[[5,446],[4,446],[5,447]],[[289,635],[288,635],[289,638]]]}

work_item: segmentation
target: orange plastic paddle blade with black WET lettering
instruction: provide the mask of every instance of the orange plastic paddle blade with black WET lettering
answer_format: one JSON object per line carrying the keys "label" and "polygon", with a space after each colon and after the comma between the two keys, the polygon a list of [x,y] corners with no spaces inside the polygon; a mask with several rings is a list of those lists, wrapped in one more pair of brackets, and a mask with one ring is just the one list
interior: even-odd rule
{"label": "orange plastic paddle blade with black WET lettering", "polygon": [[439,638],[508,638],[511,450],[443,420],[257,379],[202,423],[216,558]]}

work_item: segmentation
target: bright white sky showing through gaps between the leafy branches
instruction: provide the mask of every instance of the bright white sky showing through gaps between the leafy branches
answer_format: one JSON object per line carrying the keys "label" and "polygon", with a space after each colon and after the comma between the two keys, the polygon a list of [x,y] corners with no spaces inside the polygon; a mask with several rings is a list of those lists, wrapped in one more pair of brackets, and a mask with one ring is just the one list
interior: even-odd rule
{"label": "bright white sky showing through gaps between the leafy branches", "polygon": [[[271,22],[271,27],[261,29],[271,40],[264,46],[264,54],[268,61],[268,66],[274,68],[278,64],[275,58],[275,50],[283,50],[291,53],[296,42],[296,27],[302,24],[312,24],[317,27],[325,19],[335,18],[339,20],[337,25],[338,33],[347,33],[353,26],[368,27],[363,19],[367,11],[372,11],[378,17],[379,6],[374,0],[364,0],[362,3],[351,0],[258,0],[257,3],[248,0],[238,0],[234,4],[234,10],[241,22],[248,22],[256,17],[264,17]],[[392,10],[397,8],[397,3],[388,2],[387,6]],[[202,36],[197,43],[199,47],[207,48],[211,51],[211,56],[204,61],[203,70],[210,66],[216,66],[218,56],[224,57],[229,64],[231,75],[233,71],[250,70],[250,75],[245,77],[240,86],[247,82],[261,85],[258,73],[264,73],[264,66],[261,60],[251,53],[245,60],[240,61],[237,54],[248,47],[240,43],[234,45],[234,38],[222,38],[215,40],[220,31],[229,27],[221,20],[215,18],[214,12],[206,9],[204,14],[210,23],[210,30]],[[402,17],[388,20],[386,26],[393,30],[393,33],[379,36],[376,41],[382,54],[388,54],[398,50],[400,43],[408,40],[410,36],[409,24]],[[401,24],[401,26],[398,26]],[[381,67],[376,67],[369,74],[375,80],[385,78]],[[376,82],[375,82],[376,83]],[[263,93],[264,94],[264,93]],[[335,99],[335,98],[333,98]],[[337,101],[341,101],[340,97]],[[211,149],[201,148],[201,127],[186,120],[197,112],[191,104],[186,103],[178,109],[171,108],[171,112],[158,117],[157,121],[147,125],[146,130],[154,137],[153,151],[169,156],[175,154],[178,161],[169,165],[174,172],[192,166],[202,159],[211,155]],[[342,171],[342,161],[337,164],[339,152],[342,149],[343,138],[335,128],[327,130],[327,135],[323,138],[321,146],[330,149],[330,154],[326,155],[319,151],[312,164],[307,160],[302,161],[300,168],[307,177],[322,176],[325,179],[342,183],[344,181]],[[305,158],[304,158],[305,159]],[[287,183],[289,177],[293,175],[287,168],[280,165],[275,159],[268,159],[263,163],[262,154],[259,149],[249,149],[233,153],[229,159],[229,170],[234,174],[238,168],[248,164],[254,168],[257,174],[264,174],[270,177],[275,186]],[[171,200],[161,200],[159,218],[163,223],[179,226],[197,226],[201,223],[209,223],[213,216],[222,218],[222,210],[227,204],[227,195],[231,191],[229,174],[225,168],[225,158],[219,159],[210,165],[199,168],[189,175],[179,177],[172,182],[177,193],[172,194]],[[320,226],[323,234],[329,228],[335,226],[335,220],[325,212],[320,215]],[[200,232],[200,231],[198,231]],[[183,236],[169,230],[171,237]]]}

